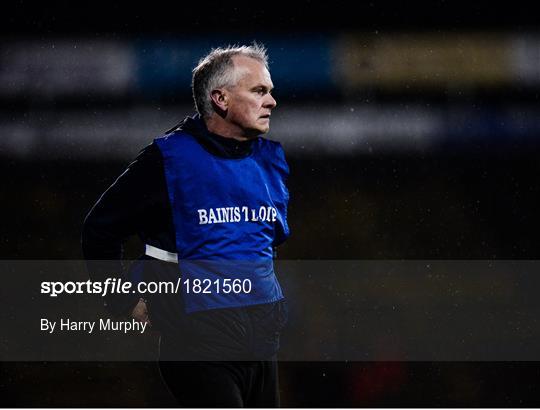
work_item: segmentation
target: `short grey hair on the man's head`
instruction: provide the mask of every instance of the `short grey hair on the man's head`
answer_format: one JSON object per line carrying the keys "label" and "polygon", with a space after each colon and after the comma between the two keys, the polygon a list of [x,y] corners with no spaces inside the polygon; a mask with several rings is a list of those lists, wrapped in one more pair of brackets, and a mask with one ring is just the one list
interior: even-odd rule
{"label": "short grey hair on the man's head", "polygon": [[212,90],[220,87],[233,86],[239,78],[234,72],[234,56],[245,56],[260,61],[268,69],[268,55],[266,48],[258,43],[250,46],[228,46],[214,48],[205,57],[199,60],[193,69],[191,89],[195,108],[203,118],[208,118],[213,112]]}

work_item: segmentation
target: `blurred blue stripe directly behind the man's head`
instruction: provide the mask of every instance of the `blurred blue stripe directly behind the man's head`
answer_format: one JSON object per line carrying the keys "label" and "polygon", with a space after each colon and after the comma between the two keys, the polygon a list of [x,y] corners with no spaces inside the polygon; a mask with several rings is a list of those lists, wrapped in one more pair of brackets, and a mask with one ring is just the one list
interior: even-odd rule
{"label": "blurred blue stripe directly behind the man's head", "polygon": [[134,44],[136,86],[147,95],[156,96],[168,92],[189,95],[191,70],[211,48],[228,44],[251,44],[254,39],[268,48],[272,80],[279,92],[334,90],[333,42],[320,34],[294,39],[228,36],[219,42],[204,38],[137,41]]}

